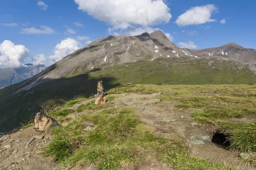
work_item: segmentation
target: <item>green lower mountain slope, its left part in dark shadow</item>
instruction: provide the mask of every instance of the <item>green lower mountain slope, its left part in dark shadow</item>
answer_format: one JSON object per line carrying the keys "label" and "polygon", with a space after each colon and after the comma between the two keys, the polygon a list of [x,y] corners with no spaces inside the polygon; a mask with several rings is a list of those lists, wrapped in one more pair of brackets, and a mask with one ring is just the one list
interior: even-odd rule
{"label": "green lower mountain slope, its left part in dark shadow", "polygon": [[31,119],[41,105],[59,102],[60,99],[68,100],[77,95],[89,97],[96,93],[98,80],[103,80],[105,90],[129,82],[155,85],[253,85],[256,81],[255,75],[247,67],[231,60],[161,58],[109,66],[102,70],[77,70],[81,71],[61,79],[49,79],[16,94],[12,93],[23,82],[0,88],[0,132],[11,130],[20,122]]}

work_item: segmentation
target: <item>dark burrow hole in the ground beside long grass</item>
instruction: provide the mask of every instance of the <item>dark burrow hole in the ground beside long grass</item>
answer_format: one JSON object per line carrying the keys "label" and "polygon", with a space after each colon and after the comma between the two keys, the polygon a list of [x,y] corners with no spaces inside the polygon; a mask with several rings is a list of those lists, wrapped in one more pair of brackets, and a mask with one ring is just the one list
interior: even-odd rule
{"label": "dark burrow hole in the ground beside long grass", "polygon": [[230,141],[227,140],[228,137],[229,137],[229,135],[217,131],[212,136],[212,143],[218,145],[218,147],[227,149],[230,146]]}

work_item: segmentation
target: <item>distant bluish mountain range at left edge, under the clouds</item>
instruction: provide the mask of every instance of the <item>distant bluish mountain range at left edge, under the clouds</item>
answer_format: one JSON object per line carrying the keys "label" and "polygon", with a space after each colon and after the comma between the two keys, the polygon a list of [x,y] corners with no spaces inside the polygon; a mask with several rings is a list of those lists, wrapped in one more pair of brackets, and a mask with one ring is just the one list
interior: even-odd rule
{"label": "distant bluish mountain range at left edge, under the clouds", "polygon": [[25,64],[18,68],[0,68],[0,88],[35,76],[46,68],[45,65]]}

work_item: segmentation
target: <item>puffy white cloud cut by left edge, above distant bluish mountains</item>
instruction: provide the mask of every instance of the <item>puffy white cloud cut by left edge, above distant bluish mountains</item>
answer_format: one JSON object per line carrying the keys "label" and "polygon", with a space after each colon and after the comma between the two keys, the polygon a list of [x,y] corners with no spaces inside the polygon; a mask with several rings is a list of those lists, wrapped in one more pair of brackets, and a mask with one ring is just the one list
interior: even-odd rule
{"label": "puffy white cloud cut by left edge, above distant bluish mountains", "polygon": [[15,68],[23,65],[29,50],[24,45],[15,45],[12,41],[4,40],[0,43],[0,67]]}

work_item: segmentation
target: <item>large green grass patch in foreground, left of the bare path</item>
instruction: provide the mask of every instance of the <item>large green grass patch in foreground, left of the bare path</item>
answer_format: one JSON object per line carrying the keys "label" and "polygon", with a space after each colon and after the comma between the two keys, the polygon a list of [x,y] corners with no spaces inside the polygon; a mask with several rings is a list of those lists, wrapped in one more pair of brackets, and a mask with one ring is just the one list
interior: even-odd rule
{"label": "large green grass patch in foreground, left of the bare path", "polygon": [[[87,122],[92,130],[84,132]],[[64,127],[54,127],[45,156],[52,156],[60,167],[71,168],[94,162],[98,170],[118,170],[145,159],[172,164],[177,170],[234,170],[193,157],[182,141],[173,135],[140,132],[134,109],[111,108],[85,114]]]}

